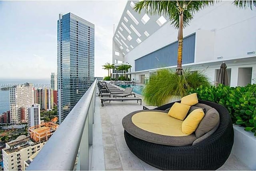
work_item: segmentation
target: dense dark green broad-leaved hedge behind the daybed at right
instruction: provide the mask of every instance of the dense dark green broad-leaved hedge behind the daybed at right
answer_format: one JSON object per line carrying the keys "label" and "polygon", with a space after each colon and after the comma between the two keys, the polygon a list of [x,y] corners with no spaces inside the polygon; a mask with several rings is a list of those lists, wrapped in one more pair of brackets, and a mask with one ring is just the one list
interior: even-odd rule
{"label": "dense dark green broad-leaved hedge behind the daybed at right", "polygon": [[256,136],[256,84],[245,87],[200,86],[191,89],[190,93],[197,93],[199,99],[224,105],[234,124],[245,127]]}

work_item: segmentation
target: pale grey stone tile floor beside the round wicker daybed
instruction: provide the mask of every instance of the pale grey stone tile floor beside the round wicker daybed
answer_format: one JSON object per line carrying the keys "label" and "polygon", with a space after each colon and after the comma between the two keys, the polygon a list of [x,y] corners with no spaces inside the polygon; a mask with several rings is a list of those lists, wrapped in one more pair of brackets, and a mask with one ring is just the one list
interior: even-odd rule
{"label": "pale grey stone tile floor beside the round wicker daybed", "polygon": [[[159,170],[136,157],[128,149],[124,140],[122,118],[132,111],[141,110],[143,105],[145,105],[143,102],[140,105],[136,101],[111,101],[105,102],[102,107],[100,97],[96,97],[96,108],[99,110],[102,128],[105,170]],[[250,169],[231,154],[218,170]]]}

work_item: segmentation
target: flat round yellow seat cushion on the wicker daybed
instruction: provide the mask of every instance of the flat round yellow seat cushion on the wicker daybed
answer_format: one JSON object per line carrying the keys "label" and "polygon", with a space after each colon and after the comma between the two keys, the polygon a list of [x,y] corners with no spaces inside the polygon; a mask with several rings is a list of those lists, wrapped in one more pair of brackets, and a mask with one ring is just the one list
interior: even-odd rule
{"label": "flat round yellow seat cushion on the wicker daybed", "polygon": [[159,111],[142,111],[132,116],[132,123],[148,132],[167,136],[186,136],[181,130],[182,121]]}

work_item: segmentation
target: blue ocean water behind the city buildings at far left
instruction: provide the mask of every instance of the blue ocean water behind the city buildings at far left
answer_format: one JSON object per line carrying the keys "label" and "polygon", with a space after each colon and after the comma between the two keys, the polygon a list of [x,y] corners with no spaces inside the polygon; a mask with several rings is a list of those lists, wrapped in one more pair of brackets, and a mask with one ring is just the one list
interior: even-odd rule
{"label": "blue ocean water behind the city buildings at far left", "polygon": [[[1,79],[0,78],[0,88],[10,87],[17,84],[24,83],[34,84],[35,87],[50,87],[49,79]],[[9,90],[0,90],[0,113],[10,110],[9,102]]]}

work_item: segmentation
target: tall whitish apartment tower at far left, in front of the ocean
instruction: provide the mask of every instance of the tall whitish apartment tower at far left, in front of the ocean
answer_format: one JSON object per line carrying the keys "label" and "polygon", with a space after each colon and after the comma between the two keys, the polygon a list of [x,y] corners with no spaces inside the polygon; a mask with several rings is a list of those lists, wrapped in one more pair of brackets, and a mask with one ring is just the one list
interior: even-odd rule
{"label": "tall whitish apartment tower at far left, in front of the ocean", "polygon": [[26,83],[9,89],[10,123],[26,123],[28,121],[27,107],[34,104],[33,85]]}

